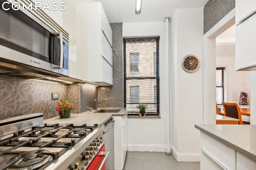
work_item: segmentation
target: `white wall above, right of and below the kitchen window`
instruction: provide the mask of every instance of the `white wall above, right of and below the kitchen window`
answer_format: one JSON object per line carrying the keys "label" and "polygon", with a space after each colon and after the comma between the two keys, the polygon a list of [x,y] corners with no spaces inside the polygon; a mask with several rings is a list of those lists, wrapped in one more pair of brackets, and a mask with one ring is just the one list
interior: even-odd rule
{"label": "white wall above, right of and below the kitchen window", "polygon": [[165,23],[123,23],[123,36],[160,36],[160,116],[161,118],[128,118],[128,150],[161,151],[166,148],[165,100]]}

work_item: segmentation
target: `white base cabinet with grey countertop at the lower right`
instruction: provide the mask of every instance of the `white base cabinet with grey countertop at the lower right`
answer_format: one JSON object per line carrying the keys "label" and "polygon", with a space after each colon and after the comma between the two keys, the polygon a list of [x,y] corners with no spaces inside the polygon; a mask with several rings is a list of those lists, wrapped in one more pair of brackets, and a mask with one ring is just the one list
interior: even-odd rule
{"label": "white base cabinet with grey countertop at the lower right", "polygon": [[202,170],[255,170],[256,125],[195,125]]}

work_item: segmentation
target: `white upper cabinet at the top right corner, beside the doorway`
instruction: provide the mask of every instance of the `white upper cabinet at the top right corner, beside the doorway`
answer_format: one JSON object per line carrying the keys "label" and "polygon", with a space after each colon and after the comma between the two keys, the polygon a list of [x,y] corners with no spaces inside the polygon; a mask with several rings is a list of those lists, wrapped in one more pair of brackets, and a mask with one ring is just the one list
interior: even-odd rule
{"label": "white upper cabinet at the top right corner, beside the doorway", "polygon": [[256,70],[256,0],[236,0],[236,70]]}

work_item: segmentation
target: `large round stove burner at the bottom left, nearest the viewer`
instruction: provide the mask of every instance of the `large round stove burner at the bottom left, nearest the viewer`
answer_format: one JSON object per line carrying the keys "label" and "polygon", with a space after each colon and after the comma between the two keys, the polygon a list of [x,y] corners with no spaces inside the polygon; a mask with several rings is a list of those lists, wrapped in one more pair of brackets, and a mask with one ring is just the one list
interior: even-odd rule
{"label": "large round stove burner at the bottom left, nearest the viewer", "polygon": [[11,158],[7,164],[12,162],[14,163],[10,166],[9,169],[35,169],[39,168],[40,166],[46,164],[48,161],[52,160],[52,156],[48,155],[48,150],[32,150],[28,152],[23,152]]}

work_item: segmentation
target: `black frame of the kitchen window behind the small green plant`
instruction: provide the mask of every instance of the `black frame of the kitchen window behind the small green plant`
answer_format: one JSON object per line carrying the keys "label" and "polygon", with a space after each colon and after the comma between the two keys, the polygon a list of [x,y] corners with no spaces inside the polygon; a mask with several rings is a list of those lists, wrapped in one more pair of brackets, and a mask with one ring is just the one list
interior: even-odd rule
{"label": "black frame of the kitchen window behind the small green plant", "polygon": [[[151,77],[126,77],[126,41],[127,40],[144,40],[144,41],[148,41],[148,40],[155,40],[156,41],[156,51],[154,53],[156,53],[156,63],[154,63],[154,76]],[[126,103],[126,80],[128,79],[136,79],[136,80],[142,80],[142,79],[156,79],[156,103],[142,103],[142,104],[154,104],[154,106],[156,105],[156,113],[153,112],[147,112],[147,115],[159,115],[160,114],[160,75],[159,75],[159,39],[160,37],[146,37],[146,38],[124,38],[123,39],[123,45],[124,45],[124,107],[126,107],[126,104],[135,104],[135,103]],[[140,61],[139,61],[140,63]],[[155,92],[154,92],[155,95]],[[155,96],[153,96],[155,98]],[[136,103],[136,104],[140,104]],[[138,112],[128,112],[129,115],[138,115]]]}

